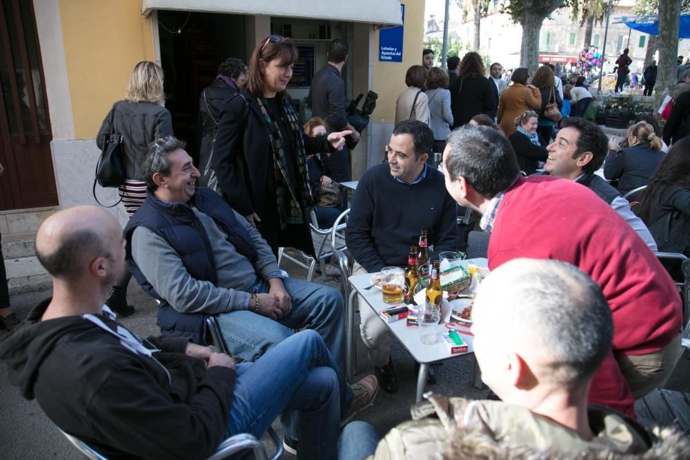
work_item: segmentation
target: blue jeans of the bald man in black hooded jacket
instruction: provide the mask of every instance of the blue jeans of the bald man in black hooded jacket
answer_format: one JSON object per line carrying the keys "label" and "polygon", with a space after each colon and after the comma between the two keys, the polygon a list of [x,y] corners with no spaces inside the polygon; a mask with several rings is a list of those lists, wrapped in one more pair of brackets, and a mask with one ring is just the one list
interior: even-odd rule
{"label": "blue jeans of the bald man in black hooded jacket", "polygon": [[352,391],[314,331],[293,334],[255,363],[237,365],[228,437],[259,438],[285,410],[299,411],[299,457],[335,459]]}

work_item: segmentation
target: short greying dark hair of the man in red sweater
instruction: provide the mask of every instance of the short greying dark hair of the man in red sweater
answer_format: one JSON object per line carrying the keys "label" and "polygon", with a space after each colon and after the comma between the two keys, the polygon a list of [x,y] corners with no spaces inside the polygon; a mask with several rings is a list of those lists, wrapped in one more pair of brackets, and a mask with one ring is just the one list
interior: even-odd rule
{"label": "short greying dark hair of the man in red sweater", "polygon": [[482,197],[507,190],[520,174],[513,147],[500,131],[465,125],[451,132],[446,143],[451,146],[444,160],[451,181],[464,177]]}

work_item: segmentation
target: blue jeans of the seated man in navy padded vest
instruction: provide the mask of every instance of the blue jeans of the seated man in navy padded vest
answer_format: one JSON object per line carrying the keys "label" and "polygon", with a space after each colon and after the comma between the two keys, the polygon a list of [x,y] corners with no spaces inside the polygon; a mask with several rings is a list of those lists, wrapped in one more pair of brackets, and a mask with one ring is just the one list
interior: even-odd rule
{"label": "blue jeans of the seated man in navy padded vest", "polygon": [[[217,320],[228,350],[246,361],[262,354],[293,334],[293,329],[318,332],[331,351],[342,374],[345,373],[345,316],[343,298],[328,286],[301,279],[283,279],[292,298],[293,309],[282,319],[262,317],[250,310],[221,313]],[[255,292],[268,292],[266,281],[257,281]]]}

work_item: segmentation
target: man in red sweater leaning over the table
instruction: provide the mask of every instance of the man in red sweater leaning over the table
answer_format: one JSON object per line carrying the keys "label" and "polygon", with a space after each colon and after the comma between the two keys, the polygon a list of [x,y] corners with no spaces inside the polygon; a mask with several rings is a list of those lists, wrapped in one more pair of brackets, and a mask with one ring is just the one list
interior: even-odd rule
{"label": "man in red sweater leaning over the table", "polygon": [[681,302],[671,277],[591,190],[555,177],[520,177],[499,132],[462,128],[446,142],[446,188],[482,213],[480,226],[491,232],[489,268],[518,257],[557,259],[602,288],[613,314],[613,354],[595,374],[589,401],[634,414],[632,395],[660,386],[680,350]]}

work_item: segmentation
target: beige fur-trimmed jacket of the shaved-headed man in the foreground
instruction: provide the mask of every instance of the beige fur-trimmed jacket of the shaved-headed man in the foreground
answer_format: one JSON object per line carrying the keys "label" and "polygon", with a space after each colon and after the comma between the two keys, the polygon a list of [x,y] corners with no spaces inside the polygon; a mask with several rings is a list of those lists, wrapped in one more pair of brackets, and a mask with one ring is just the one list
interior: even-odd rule
{"label": "beige fur-trimmed jacket of the shaved-headed man in the foreground", "polygon": [[[647,432],[639,423],[600,406],[589,407],[590,441],[576,432],[501,401],[470,401],[432,394],[411,409],[413,420],[393,428],[368,460],[387,459],[687,459],[680,432]],[[433,417],[435,415],[435,417]]]}

